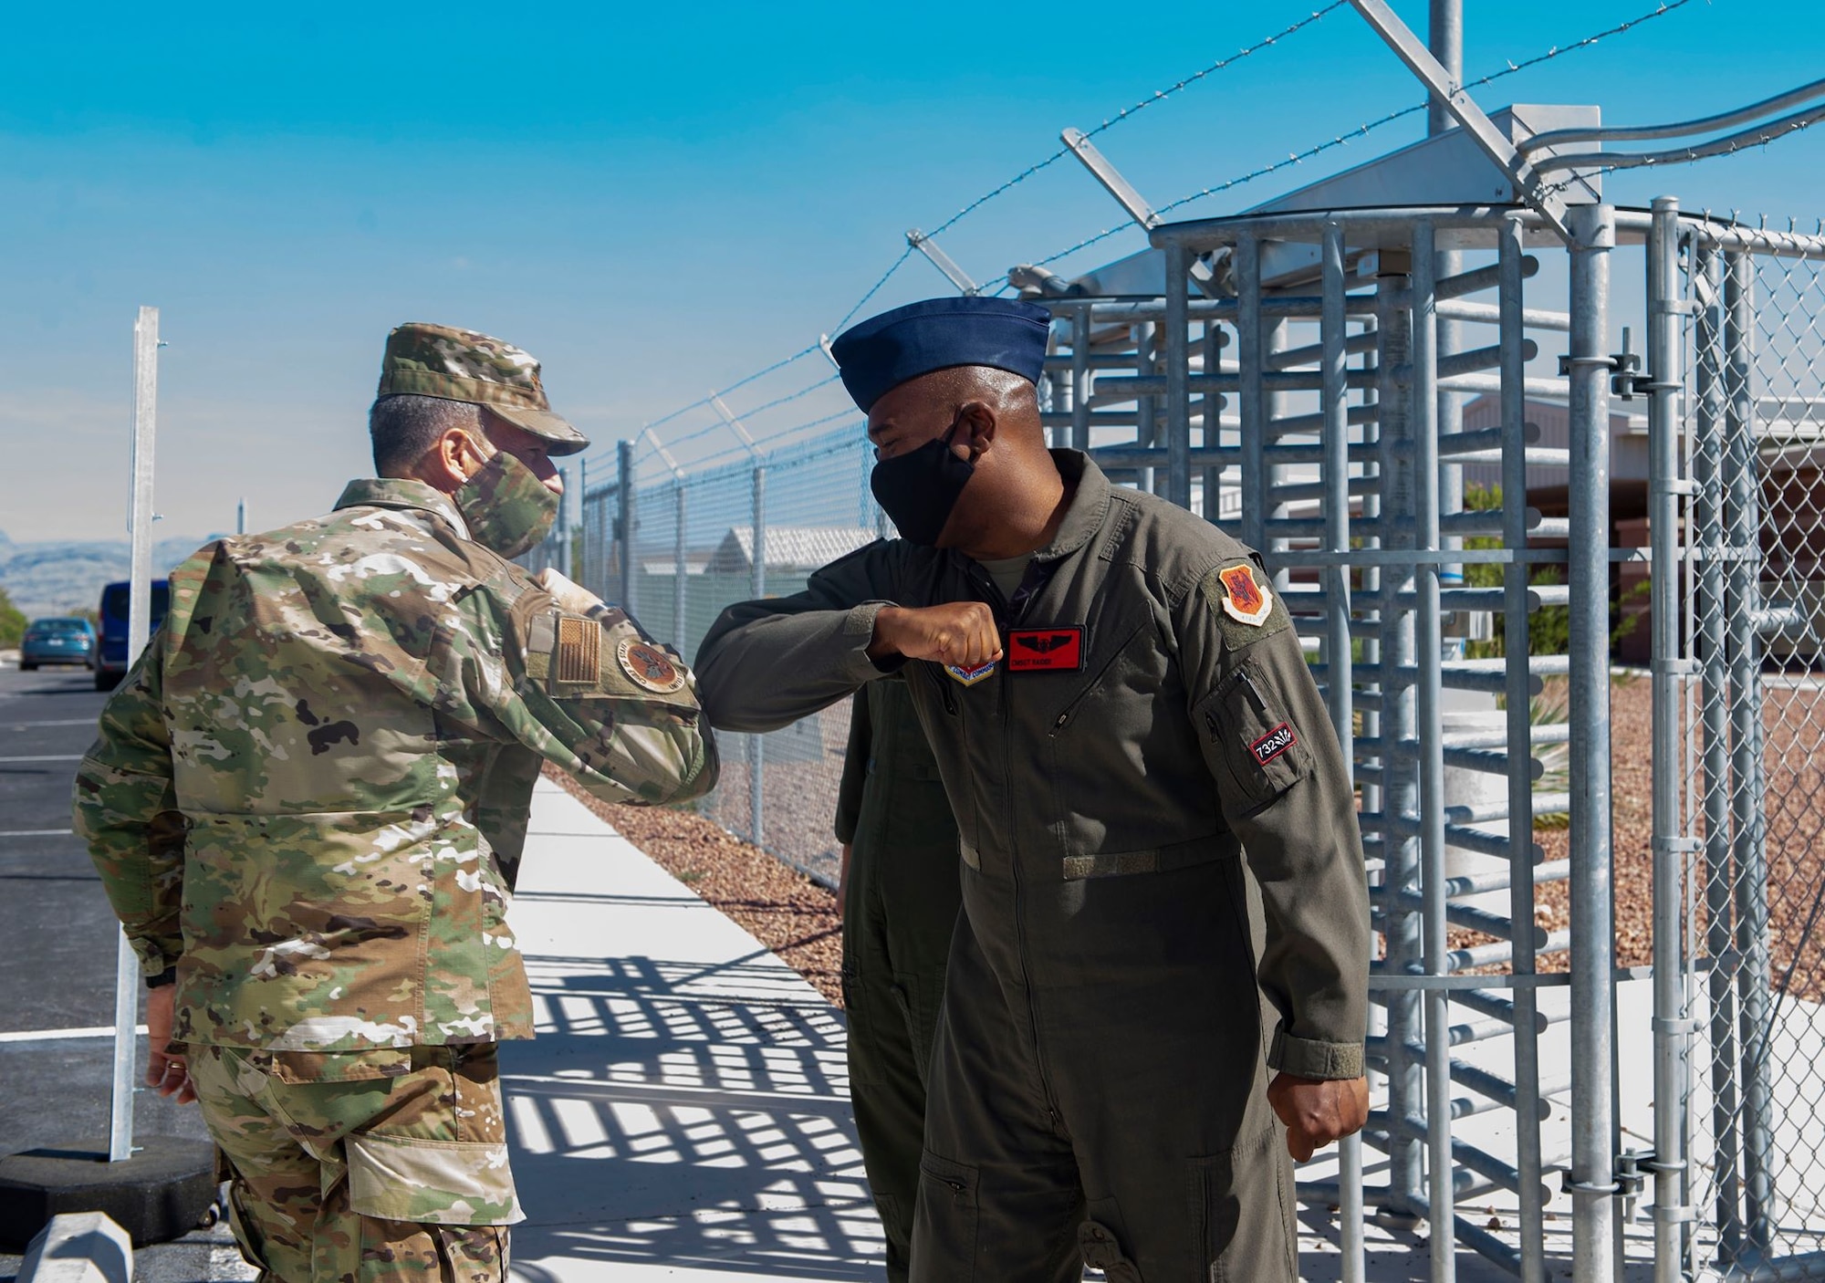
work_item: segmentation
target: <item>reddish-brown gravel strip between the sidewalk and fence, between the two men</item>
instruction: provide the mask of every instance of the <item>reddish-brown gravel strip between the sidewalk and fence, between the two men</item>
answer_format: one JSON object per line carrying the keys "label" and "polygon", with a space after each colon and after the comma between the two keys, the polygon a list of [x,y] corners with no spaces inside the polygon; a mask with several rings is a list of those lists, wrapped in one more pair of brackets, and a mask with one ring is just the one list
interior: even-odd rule
{"label": "reddish-brown gravel strip between the sidewalk and fence, between the two men", "polygon": [[777,953],[825,998],[843,1006],[843,922],[836,916],[836,892],[703,816],[673,807],[611,807],[558,770],[548,767],[546,776]]}

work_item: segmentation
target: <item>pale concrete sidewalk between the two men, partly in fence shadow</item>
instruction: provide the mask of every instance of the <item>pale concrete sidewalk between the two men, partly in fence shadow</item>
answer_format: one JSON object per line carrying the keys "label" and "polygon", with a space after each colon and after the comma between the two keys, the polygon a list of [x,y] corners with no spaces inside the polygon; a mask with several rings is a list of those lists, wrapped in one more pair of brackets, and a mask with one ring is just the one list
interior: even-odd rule
{"label": "pale concrete sidewalk between the two men, partly in fence shadow", "polygon": [[754,936],[538,783],[502,1046],[524,1283],[883,1279],[843,1020]]}

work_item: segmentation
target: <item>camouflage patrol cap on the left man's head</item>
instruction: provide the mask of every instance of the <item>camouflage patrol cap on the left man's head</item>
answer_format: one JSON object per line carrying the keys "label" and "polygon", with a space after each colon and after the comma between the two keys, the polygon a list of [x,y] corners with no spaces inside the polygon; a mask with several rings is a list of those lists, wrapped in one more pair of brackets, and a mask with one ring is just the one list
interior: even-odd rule
{"label": "camouflage patrol cap on the left man's head", "polygon": [[374,398],[402,392],[485,405],[551,442],[553,454],[575,454],[589,445],[588,436],[551,412],[531,352],[476,330],[407,321],[389,334]]}

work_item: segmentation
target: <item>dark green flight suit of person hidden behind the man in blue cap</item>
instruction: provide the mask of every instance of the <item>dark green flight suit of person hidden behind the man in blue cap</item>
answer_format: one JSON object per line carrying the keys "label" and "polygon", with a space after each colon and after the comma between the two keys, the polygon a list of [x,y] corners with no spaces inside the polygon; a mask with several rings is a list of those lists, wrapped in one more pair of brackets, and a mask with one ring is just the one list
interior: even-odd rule
{"label": "dark green flight suit of person hidden behind the man in blue cap", "polygon": [[964,889],[956,821],[903,681],[856,692],[836,840],[852,843],[843,900],[849,1097],[887,1232],[887,1278],[905,1283],[925,1068]]}

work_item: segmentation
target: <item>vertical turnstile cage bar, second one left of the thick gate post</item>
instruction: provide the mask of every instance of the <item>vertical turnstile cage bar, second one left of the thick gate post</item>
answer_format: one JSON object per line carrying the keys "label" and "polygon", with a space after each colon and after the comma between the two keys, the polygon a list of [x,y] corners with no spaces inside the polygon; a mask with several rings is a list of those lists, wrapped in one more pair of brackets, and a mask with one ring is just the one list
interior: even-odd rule
{"label": "vertical turnstile cage bar, second one left of the thick gate post", "polygon": [[[1438,549],[1438,299],[1433,294],[1433,224],[1413,228],[1413,478],[1420,551]],[[1414,568],[1418,599],[1420,892],[1425,898],[1425,973],[1442,976],[1445,958],[1445,741],[1440,725],[1444,673],[1438,619],[1438,562]],[[1431,1279],[1456,1278],[1455,1190],[1451,1186],[1451,1013],[1444,989],[1425,991],[1425,1148]]]}

